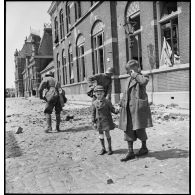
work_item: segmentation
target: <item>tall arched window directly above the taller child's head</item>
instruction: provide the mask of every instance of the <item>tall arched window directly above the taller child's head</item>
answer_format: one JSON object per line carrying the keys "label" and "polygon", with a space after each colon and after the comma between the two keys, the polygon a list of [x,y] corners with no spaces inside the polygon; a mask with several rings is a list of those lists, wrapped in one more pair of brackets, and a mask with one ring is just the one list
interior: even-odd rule
{"label": "tall arched window directly above the taller child's head", "polygon": [[139,62],[139,66],[142,67],[142,45],[141,45],[141,21],[140,21],[140,8],[139,2],[133,1],[128,5],[126,13],[126,22],[131,24],[132,34],[128,35],[127,48],[129,59],[134,59]]}

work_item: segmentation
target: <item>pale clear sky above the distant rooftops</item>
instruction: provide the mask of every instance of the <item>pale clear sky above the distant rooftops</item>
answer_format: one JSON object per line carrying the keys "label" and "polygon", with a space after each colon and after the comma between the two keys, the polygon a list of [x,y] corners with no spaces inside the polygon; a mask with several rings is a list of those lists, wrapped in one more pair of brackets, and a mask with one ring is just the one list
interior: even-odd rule
{"label": "pale clear sky above the distant rooftops", "polygon": [[50,23],[47,13],[52,1],[7,1],[5,7],[6,27],[6,88],[14,87],[14,52],[21,50],[30,28],[43,34],[44,23]]}

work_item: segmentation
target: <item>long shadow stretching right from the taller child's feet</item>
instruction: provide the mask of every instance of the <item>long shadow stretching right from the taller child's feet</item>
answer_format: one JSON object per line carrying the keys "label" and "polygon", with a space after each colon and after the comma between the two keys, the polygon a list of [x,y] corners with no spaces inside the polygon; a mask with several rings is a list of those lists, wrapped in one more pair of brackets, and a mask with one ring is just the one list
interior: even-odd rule
{"label": "long shadow stretching right from the taller child's feet", "polygon": [[[135,149],[134,152],[138,152],[139,149]],[[114,154],[126,154],[127,149],[119,149],[115,150]],[[181,149],[169,149],[169,150],[161,150],[161,151],[154,151],[148,153],[148,155],[140,156],[139,158],[146,158],[146,157],[154,157],[158,160],[166,160],[169,158],[187,158],[189,156],[188,150],[181,150]]]}

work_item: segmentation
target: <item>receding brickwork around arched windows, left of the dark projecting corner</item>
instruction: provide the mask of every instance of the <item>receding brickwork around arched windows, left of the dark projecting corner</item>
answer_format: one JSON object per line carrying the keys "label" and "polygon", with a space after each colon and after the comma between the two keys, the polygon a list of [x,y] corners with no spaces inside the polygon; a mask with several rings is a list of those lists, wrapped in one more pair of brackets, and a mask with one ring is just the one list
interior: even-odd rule
{"label": "receding brickwork around arched windows, left of the dark projecting corner", "polygon": [[[61,9],[61,7],[65,7],[65,3],[61,3],[52,16],[52,20],[55,18],[55,16],[58,13],[58,10]],[[102,9],[104,7],[104,9]],[[88,9],[87,9],[88,8]],[[84,15],[89,9],[91,8],[91,2],[81,2],[81,13]],[[74,6],[71,7],[70,12],[72,13],[71,17],[73,17],[73,22],[74,24]],[[59,53],[59,60],[60,64],[62,65],[62,50],[65,49],[65,55],[66,55],[66,61],[68,62],[68,47],[69,44],[72,45],[73,49],[73,63],[74,63],[74,77],[75,77],[75,82],[77,82],[77,63],[76,63],[76,39],[79,36],[79,34],[82,34],[85,38],[85,67],[86,67],[86,77],[90,76],[92,74],[92,43],[91,43],[91,32],[93,25],[95,24],[96,21],[100,20],[103,22],[104,26],[104,40],[106,42],[105,45],[105,69],[107,67],[113,66],[113,58],[112,58],[112,35],[111,35],[111,19],[110,19],[110,2],[105,1],[103,3],[100,3],[100,5],[91,11],[90,14],[88,14],[83,21],[78,23],[71,31],[70,33],[66,33],[65,30],[65,35],[67,36],[66,39],[62,39],[58,45],[55,45],[54,49],[54,64],[55,68],[57,68],[57,53]],[[65,13],[64,13],[65,14]],[[54,21],[52,21],[52,29],[54,31]],[[66,25],[65,25],[66,26]],[[65,28],[66,29],[66,28]],[[109,62],[106,60],[109,58]],[[68,81],[69,81],[69,64],[68,64]],[[62,69],[61,69],[62,70]],[[61,71],[61,79],[62,79],[62,71]],[[57,77],[57,73],[55,74],[55,77]]]}

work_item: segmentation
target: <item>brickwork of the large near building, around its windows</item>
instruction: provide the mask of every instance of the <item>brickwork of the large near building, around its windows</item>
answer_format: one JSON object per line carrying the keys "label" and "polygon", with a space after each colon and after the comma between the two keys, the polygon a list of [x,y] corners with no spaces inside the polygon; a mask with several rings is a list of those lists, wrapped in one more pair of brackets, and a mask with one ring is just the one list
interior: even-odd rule
{"label": "brickwork of the large near building, around its windows", "polygon": [[[140,4],[140,19],[141,19],[141,41],[142,41],[142,62],[143,70],[150,70],[151,65],[154,68],[158,68],[158,60],[160,50],[158,48],[159,36],[157,33],[157,13],[156,2],[141,1]],[[66,61],[68,62],[68,46],[71,43],[73,48],[74,59],[74,76],[75,84],[64,86],[68,94],[82,94],[85,93],[86,84],[77,84],[77,70],[76,70],[76,39],[80,33],[85,38],[85,65],[86,76],[92,74],[92,43],[91,43],[91,30],[97,20],[101,20],[105,24],[105,68],[108,66],[114,66],[116,68],[116,75],[124,75],[126,73],[124,65],[128,60],[126,35],[123,27],[125,10],[127,8],[128,1],[115,1],[101,2],[94,10],[87,15],[84,20],[78,23],[74,29],[67,34],[66,21],[65,22],[65,39],[60,40],[59,44],[54,49],[54,65],[56,69],[56,55],[59,53],[60,63],[62,64],[62,50],[65,49]],[[179,47],[181,52],[181,63],[189,62],[189,3],[179,2],[178,6],[181,7],[181,14],[179,14]],[[52,15],[52,28],[54,27],[54,18],[59,15],[60,9],[64,10],[65,15],[65,3],[59,3],[57,10]],[[82,2],[82,16],[91,8],[91,2]],[[71,17],[73,17],[72,23],[74,23],[74,6],[71,7]],[[186,16],[187,14],[187,16]],[[59,16],[58,16],[59,17]],[[181,28],[181,26],[185,28]],[[112,26],[112,28],[111,28]],[[53,28],[54,32],[54,28]],[[59,29],[60,32],[60,29]],[[186,35],[187,34],[187,35]],[[187,40],[187,41],[186,41]],[[160,46],[159,46],[160,47]],[[109,60],[108,60],[109,59]],[[156,64],[155,64],[156,62]],[[152,64],[153,63],[153,64]],[[69,81],[69,65],[68,65],[68,81]],[[55,71],[56,72],[56,71]],[[62,69],[61,69],[62,74]],[[62,75],[61,75],[62,78]],[[118,90],[113,82],[115,91],[113,93],[122,93],[125,89],[126,78],[121,78],[118,82]],[[171,92],[171,91],[188,91],[189,90],[189,70],[174,70],[172,72],[161,72],[153,75],[153,84],[155,92]],[[147,86],[147,90],[151,91],[151,81]]]}

